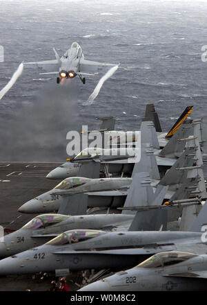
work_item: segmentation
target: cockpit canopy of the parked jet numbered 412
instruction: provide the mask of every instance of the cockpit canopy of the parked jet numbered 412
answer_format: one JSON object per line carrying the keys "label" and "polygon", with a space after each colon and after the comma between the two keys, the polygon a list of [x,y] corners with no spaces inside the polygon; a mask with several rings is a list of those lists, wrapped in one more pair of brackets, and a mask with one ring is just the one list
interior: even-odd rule
{"label": "cockpit canopy of the parked jet numbered 412", "polygon": [[79,243],[80,241],[87,241],[90,238],[94,238],[102,234],[106,234],[106,232],[89,229],[70,230],[53,238],[52,241],[48,241],[46,245],[67,245],[71,243]]}

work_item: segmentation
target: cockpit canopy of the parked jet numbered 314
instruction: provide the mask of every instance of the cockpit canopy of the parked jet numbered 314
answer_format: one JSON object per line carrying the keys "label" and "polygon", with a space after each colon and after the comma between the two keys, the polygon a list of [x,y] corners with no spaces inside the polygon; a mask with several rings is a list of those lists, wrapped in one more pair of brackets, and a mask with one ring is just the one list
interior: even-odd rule
{"label": "cockpit canopy of the parked jet numbered 314", "polygon": [[37,217],[34,217],[30,220],[29,223],[24,225],[22,229],[43,229],[49,227],[50,225],[55,225],[61,223],[63,220],[68,219],[69,216],[61,214],[43,214]]}

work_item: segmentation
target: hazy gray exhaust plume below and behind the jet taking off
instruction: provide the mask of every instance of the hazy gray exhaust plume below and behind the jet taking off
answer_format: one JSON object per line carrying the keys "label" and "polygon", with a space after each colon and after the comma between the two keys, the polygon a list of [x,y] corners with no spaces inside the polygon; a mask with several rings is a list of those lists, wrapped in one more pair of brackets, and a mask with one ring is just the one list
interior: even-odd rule
{"label": "hazy gray exhaust plume below and behind the jet taking off", "polygon": [[35,101],[18,105],[0,121],[0,159],[63,162],[70,130],[81,130],[77,87],[48,84]]}

